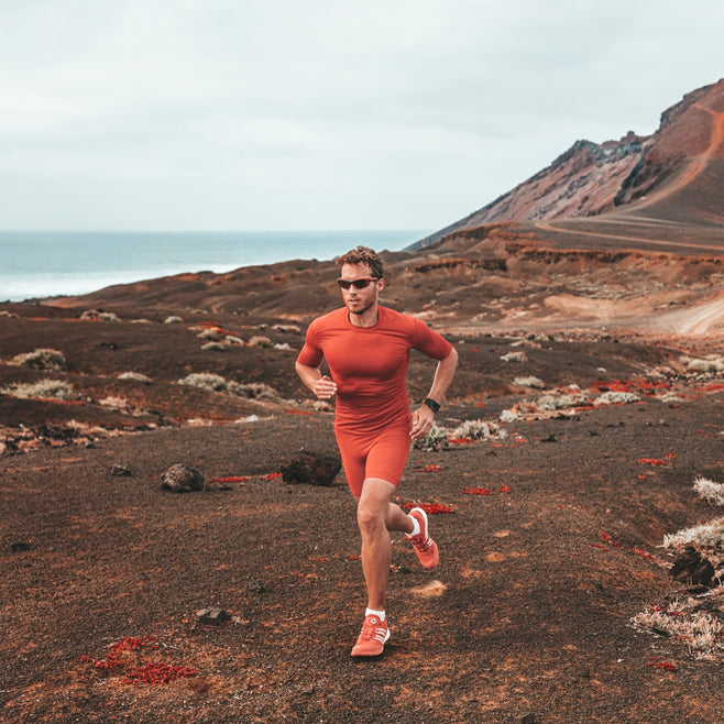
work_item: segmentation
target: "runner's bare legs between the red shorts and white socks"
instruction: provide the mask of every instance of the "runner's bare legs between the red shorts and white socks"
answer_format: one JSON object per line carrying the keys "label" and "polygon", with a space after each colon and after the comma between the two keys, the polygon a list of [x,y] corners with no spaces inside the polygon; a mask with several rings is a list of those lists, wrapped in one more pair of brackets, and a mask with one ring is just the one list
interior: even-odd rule
{"label": "runner's bare legs between the red shorts and white socks", "polygon": [[368,478],[358,503],[356,519],[362,534],[362,571],[368,585],[368,608],[385,610],[385,593],[392,562],[390,530],[412,533],[415,524],[392,502],[395,486],[380,478]]}

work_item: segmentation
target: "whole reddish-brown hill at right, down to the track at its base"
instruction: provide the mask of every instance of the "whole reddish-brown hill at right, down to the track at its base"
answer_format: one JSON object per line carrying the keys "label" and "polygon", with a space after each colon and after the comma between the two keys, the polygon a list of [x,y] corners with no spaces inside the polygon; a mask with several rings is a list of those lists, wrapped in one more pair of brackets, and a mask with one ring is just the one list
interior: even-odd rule
{"label": "whole reddish-brown hill at right, down to the track at its base", "polygon": [[619,218],[628,207],[632,213],[646,208],[647,219],[721,224],[723,113],[720,80],[665,110],[650,136],[628,132],[600,145],[577,141],[547,168],[410,250],[483,224],[607,217],[612,211]]}

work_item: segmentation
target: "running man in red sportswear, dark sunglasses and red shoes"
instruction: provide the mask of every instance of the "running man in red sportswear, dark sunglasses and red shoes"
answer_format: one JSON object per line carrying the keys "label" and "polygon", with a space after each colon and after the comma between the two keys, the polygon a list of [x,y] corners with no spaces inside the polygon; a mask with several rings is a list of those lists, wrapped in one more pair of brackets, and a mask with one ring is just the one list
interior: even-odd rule
{"label": "running man in red sportswear, dark sunglasses and red shoes", "polygon": [[[435,413],[458,366],[458,353],[419,319],[379,304],[384,265],[366,246],[337,260],[344,306],[315,319],[296,361],[304,384],[319,399],[337,397],[334,435],[344,473],[358,501],[362,570],[368,608],[352,656],[379,656],[390,638],[385,593],[392,561],[390,530],[407,534],[425,568],[438,563],[427,515],[409,515],[392,502],[413,440],[432,428]],[[427,399],[410,414],[407,399],[409,350],[438,360]],[[327,360],[331,379],[322,375]]]}

